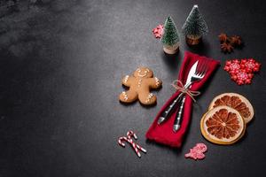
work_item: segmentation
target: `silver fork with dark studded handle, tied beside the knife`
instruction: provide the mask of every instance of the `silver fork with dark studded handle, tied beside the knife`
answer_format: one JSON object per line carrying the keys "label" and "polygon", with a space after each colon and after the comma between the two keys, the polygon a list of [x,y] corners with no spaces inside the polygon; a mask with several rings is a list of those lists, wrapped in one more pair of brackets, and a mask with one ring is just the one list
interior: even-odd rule
{"label": "silver fork with dark studded handle, tied beside the knife", "polygon": [[[205,60],[204,62],[201,62],[197,69],[196,72],[192,74],[192,80],[188,84],[188,88],[192,87],[192,83],[195,83],[197,81],[200,81],[204,78],[208,70],[208,61]],[[182,93],[182,96],[184,93]],[[180,127],[181,127],[181,121],[182,121],[182,115],[183,115],[183,109],[184,109],[184,102],[185,102],[185,96],[183,96],[182,102],[180,104],[179,111],[176,113],[176,119],[174,121],[174,126],[173,130],[176,132]]]}

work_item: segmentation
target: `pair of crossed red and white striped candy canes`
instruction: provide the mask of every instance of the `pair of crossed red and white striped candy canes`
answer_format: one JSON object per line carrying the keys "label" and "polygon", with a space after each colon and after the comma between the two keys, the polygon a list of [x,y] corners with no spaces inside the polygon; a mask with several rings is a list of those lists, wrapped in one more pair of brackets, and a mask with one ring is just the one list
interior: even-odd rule
{"label": "pair of crossed red and white striped candy canes", "polygon": [[133,131],[128,131],[127,133],[127,137],[126,136],[121,136],[118,139],[118,143],[119,145],[121,145],[122,147],[125,147],[126,144],[124,143],[124,141],[129,142],[131,144],[131,146],[133,147],[133,149],[135,150],[135,152],[137,153],[138,158],[141,157],[139,150],[143,151],[143,152],[147,152],[147,150],[145,150],[144,148],[142,148],[141,146],[139,146],[136,142],[133,142],[133,139],[131,138],[131,136],[133,136],[135,138],[135,140],[137,140],[137,135],[133,132]]}

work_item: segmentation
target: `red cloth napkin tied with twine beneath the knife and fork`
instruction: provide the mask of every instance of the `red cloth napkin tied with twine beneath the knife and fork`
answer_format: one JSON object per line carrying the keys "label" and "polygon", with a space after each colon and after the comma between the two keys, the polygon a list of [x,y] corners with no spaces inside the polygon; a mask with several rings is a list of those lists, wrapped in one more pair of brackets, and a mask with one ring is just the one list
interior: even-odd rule
{"label": "red cloth napkin tied with twine beneath the knife and fork", "polygon": [[[207,81],[207,79],[214,73],[215,68],[218,65],[220,65],[219,61],[214,60],[212,58],[202,57],[189,51],[185,51],[184,62],[180,69],[178,80],[182,81],[182,83],[185,84],[187,75],[192,65],[197,60],[199,60],[199,64],[200,64],[200,62],[205,59],[209,60],[209,67],[208,67],[207,73],[202,80],[192,84],[192,88],[191,88],[191,90],[194,90],[194,91],[199,90],[203,86],[203,84]],[[162,124],[160,125],[157,124],[157,120],[159,119],[161,112],[163,112],[168,107],[168,105],[174,101],[174,99],[179,95],[179,93],[180,91],[176,91],[176,93],[168,99],[167,103],[162,106],[162,108],[160,109],[160,112],[158,112],[156,118],[154,119],[152,126],[149,128],[149,130],[146,133],[147,139],[153,140],[155,142],[159,142],[159,143],[162,143],[168,146],[172,146],[172,147],[181,147],[184,134],[186,133],[190,120],[191,120],[193,101],[190,96],[186,96],[185,103],[184,103],[183,120],[182,120],[180,129],[176,133],[173,132],[173,125],[174,125],[174,120],[176,117],[176,112],[172,113],[172,115],[170,115],[170,118],[166,120],[165,122],[163,122]]]}

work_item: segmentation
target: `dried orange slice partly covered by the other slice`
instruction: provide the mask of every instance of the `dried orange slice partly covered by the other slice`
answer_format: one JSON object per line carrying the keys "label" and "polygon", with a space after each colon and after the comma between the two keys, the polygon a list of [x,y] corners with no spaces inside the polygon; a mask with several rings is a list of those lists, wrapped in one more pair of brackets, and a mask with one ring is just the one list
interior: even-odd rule
{"label": "dried orange slice partly covered by the other slice", "polygon": [[211,110],[219,105],[227,105],[237,110],[248,123],[254,117],[254,109],[246,97],[236,93],[224,93],[216,96],[208,107]]}

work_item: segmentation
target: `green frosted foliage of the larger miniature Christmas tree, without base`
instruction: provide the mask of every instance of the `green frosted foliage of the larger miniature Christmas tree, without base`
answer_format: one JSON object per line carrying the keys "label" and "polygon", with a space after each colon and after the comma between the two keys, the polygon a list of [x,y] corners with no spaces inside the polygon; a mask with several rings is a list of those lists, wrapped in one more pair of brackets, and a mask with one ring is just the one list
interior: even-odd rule
{"label": "green frosted foliage of the larger miniature Christmas tree, without base", "polygon": [[205,35],[207,31],[207,23],[203,19],[198,5],[194,5],[192,12],[190,12],[189,16],[184,22],[182,32],[187,37],[200,38],[202,35]]}

